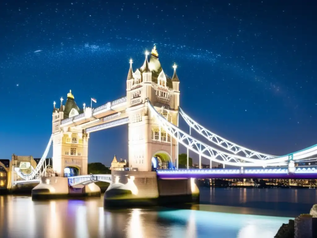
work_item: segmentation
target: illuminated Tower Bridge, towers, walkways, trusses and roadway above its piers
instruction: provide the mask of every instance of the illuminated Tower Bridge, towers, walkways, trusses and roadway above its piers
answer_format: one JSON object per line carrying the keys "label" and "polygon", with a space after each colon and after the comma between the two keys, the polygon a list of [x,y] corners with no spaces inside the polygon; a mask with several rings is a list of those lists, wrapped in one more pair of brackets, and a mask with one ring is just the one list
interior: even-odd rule
{"label": "illuminated Tower Bridge, towers, walkways, trusses and roadway above its piers", "polygon": [[[149,55],[150,60],[148,60]],[[45,152],[38,166],[30,174],[23,174],[19,168],[15,168],[16,173],[24,180],[16,183],[37,181],[40,182],[38,186],[41,189],[45,186],[50,186],[48,189],[53,189],[55,186],[53,184],[58,181],[67,181],[69,186],[78,184],[88,186],[89,181],[112,181],[113,183],[108,190],[116,190],[121,186],[120,188],[131,188],[131,191],[136,191],[134,186],[136,186],[136,183],[139,184],[140,179],[148,178],[149,181],[153,182],[152,178],[155,178],[155,181],[159,178],[158,182],[154,181],[154,185],[152,184],[159,188],[163,186],[162,182],[159,181],[169,177],[180,179],[206,176],[206,178],[209,178],[216,175],[223,176],[224,174],[228,176],[230,174],[232,176],[237,176],[237,174],[248,176],[246,171],[251,171],[251,169],[248,170],[247,168],[255,168],[254,171],[259,172],[253,173],[252,176],[259,176],[268,174],[265,172],[268,171],[267,169],[275,168],[274,171],[278,171],[276,168],[281,166],[284,168],[282,169],[283,174],[286,173],[288,176],[301,173],[301,176],[309,174],[310,177],[317,178],[316,168],[311,168],[308,171],[308,169],[298,170],[294,167],[295,161],[301,161],[316,155],[316,145],[288,155],[269,155],[231,142],[194,121],[179,107],[180,81],[176,73],[176,64],[173,65],[173,76],[169,77],[162,69],[158,56],[159,54],[154,46],[151,54],[146,52],[142,66],[135,70],[133,70],[133,61],[130,60],[126,78],[126,96],[124,97],[96,108],[87,107],[85,104],[83,107],[79,107],[70,90],[65,104],[63,104],[63,98],[60,99],[59,107],[56,107],[54,102],[52,134]],[[178,127],[179,116],[189,125],[189,133]],[[128,124],[129,171],[113,171],[112,176],[87,175],[90,133],[123,124]],[[191,130],[198,132],[199,136],[208,140],[208,143],[201,142],[193,137]],[[43,162],[51,144],[53,146],[55,177],[42,178]],[[187,149],[187,170],[178,170],[178,148],[180,144]],[[200,169],[202,168],[202,159],[209,160],[210,163],[212,161],[222,163],[234,169],[209,169],[207,172],[206,170],[190,170],[188,164],[189,151],[199,156]],[[175,168],[169,166],[169,170],[160,170],[165,168],[162,166],[164,163],[175,165]],[[63,180],[65,168],[76,169],[78,176]],[[275,176],[281,174],[275,173]],[[125,180],[126,183],[124,184],[123,180],[120,179]],[[133,182],[134,179],[135,182]],[[143,189],[145,190],[146,187],[143,187]],[[141,190],[139,188],[138,193],[147,196],[144,191],[140,192]],[[157,193],[157,191],[153,192],[156,195]]]}

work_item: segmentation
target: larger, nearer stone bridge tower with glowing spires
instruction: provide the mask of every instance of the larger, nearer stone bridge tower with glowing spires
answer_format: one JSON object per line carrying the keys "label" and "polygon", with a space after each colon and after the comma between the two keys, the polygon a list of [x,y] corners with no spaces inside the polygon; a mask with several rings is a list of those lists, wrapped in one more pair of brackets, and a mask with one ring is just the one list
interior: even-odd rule
{"label": "larger, nearer stone bridge tower with glowing spires", "polygon": [[179,80],[174,74],[168,77],[163,71],[156,46],[150,61],[146,52],[143,65],[133,72],[132,60],[126,80],[129,166],[138,171],[167,168],[175,164],[177,141],[161,128],[148,110],[149,98],[155,109],[166,120],[178,126]]}

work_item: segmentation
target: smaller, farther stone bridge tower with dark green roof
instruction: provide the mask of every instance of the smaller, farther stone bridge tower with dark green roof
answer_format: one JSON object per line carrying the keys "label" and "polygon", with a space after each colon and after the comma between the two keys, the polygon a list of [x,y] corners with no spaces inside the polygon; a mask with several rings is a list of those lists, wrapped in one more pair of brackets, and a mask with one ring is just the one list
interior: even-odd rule
{"label": "smaller, farther stone bridge tower with dark green roof", "polygon": [[61,121],[83,113],[74,101],[71,90],[63,105],[53,109],[52,142],[53,142],[53,170],[56,175],[63,177],[65,168],[75,170],[74,175],[87,175],[88,139],[89,136],[80,128],[63,127]]}

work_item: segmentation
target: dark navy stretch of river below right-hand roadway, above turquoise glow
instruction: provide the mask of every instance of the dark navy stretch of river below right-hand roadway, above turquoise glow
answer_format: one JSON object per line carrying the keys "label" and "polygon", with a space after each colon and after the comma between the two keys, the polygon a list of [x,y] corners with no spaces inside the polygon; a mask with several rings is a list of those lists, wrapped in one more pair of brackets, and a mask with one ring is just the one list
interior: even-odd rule
{"label": "dark navy stretch of river below right-hand roadway, above turquoise glow", "polygon": [[[301,213],[309,213],[312,205],[317,203],[317,190],[308,188],[200,188],[200,202],[239,207],[238,213],[244,214],[295,217]],[[262,209],[262,211],[257,209]]]}

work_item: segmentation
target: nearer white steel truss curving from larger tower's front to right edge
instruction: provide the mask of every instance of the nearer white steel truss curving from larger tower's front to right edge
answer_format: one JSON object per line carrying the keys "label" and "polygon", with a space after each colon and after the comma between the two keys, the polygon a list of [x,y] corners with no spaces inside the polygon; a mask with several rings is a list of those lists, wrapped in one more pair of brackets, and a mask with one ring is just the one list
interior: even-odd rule
{"label": "nearer white steel truss curving from larger tower's front to right edge", "polygon": [[[211,161],[233,165],[233,166],[273,166],[278,165],[279,163],[285,164],[288,161],[288,155],[280,156],[276,158],[269,159],[259,159],[259,158],[249,158],[247,156],[241,156],[236,154],[231,154],[228,152],[221,151],[219,149],[215,149],[204,142],[201,142],[194,137],[188,135],[181,129],[179,129],[174,124],[168,122],[157,110],[152,106],[151,102],[147,100],[147,106],[151,111],[151,116],[155,117],[157,123],[165,131],[167,131],[171,136],[173,136],[179,143],[184,145],[187,149],[194,151],[198,155],[201,155]],[[301,150],[293,154],[293,160],[300,160],[303,158],[307,158],[308,156],[317,154],[317,147],[309,147],[307,149]]]}

